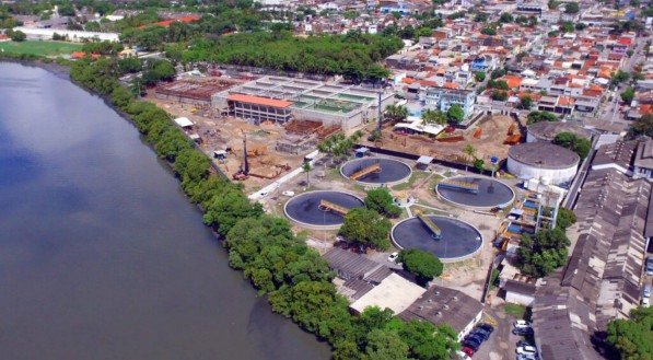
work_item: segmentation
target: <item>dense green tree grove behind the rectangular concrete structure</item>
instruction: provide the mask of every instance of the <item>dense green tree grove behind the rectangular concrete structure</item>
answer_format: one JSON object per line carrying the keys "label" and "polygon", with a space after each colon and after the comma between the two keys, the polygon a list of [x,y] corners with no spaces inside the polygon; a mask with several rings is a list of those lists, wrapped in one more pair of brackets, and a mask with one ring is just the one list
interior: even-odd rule
{"label": "dense green tree grove behind the rectangular concrete structure", "polygon": [[[358,82],[387,77],[377,62],[400,48],[401,40],[394,36],[350,33],[301,38],[284,31],[257,32],[197,40],[180,54],[180,60],[343,74]],[[168,48],[168,55],[175,57],[174,48]]]}

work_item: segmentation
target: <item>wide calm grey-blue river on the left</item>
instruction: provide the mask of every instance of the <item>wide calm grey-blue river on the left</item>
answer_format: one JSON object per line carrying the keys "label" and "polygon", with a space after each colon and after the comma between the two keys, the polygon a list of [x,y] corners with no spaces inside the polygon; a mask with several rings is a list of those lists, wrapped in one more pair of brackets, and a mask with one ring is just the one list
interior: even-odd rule
{"label": "wide calm grey-blue river on the left", "polygon": [[0,63],[0,359],[328,359],[270,312],[138,131]]}

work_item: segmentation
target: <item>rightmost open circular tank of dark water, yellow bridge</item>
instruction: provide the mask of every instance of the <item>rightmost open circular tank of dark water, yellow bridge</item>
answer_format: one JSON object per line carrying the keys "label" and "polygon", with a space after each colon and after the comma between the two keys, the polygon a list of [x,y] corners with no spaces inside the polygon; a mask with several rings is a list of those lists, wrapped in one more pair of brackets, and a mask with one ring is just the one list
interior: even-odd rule
{"label": "rightmost open circular tank of dark water, yellow bridge", "polygon": [[[471,188],[466,188],[466,184],[471,184]],[[453,205],[479,210],[504,208],[515,198],[515,191],[510,186],[494,178],[478,176],[447,178],[435,185],[435,194]]]}

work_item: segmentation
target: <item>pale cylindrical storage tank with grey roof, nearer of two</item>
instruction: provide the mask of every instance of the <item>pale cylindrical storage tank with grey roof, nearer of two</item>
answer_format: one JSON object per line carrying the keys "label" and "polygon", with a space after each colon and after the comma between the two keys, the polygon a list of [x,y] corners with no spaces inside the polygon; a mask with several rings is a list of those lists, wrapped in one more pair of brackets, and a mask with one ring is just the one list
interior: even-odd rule
{"label": "pale cylindrical storage tank with grey roof, nearer of two", "polygon": [[537,178],[561,185],[573,179],[581,158],[565,148],[538,141],[514,146],[508,151],[508,171],[522,179]]}

